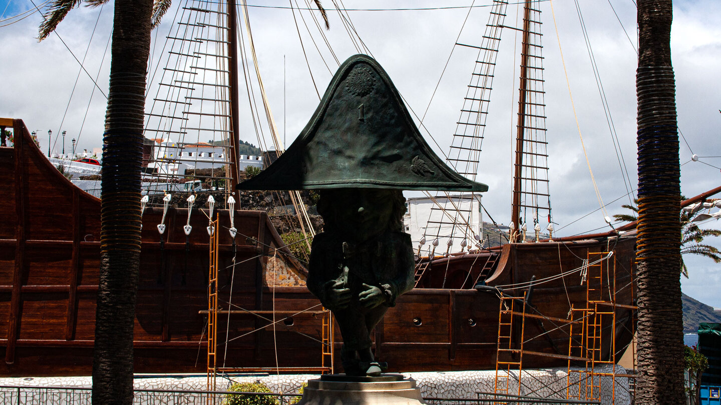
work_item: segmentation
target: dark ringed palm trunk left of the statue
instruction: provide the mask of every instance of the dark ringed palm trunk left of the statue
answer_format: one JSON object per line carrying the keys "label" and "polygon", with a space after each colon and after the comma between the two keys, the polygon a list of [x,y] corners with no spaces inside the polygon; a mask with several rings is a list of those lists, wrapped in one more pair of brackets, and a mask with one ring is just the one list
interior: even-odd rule
{"label": "dark ringed palm trunk left of the statue", "polygon": [[140,167],[151,10],[151,0],[115,1],[102,159],[93,404],[133,401],[133,321],[141,245]]}

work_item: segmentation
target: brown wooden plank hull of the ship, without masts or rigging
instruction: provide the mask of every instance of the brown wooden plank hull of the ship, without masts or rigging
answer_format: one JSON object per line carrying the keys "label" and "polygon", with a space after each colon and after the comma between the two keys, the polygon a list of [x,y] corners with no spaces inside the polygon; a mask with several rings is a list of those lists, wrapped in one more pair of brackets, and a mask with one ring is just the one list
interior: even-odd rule
{"label": "brown wooden plank hull of the ship, without masts or rigging", "polygon": [[[14,120],[17,145],[0,148],[6,198],[0,211],[0,375],[89,375],[92,370],[99,272],[99,200],[79,190],[48,162]],[[208,208],[143,213],[141,277],[135,322],[136,373],[205,373],[208,326]],[[292,257],[265,212],[216,210],[218,347],[216,367],[286,372],[321,370],[327,313],[304,287],[306,270]],[[523,368],[567,365],[569,322],[588,306],[578,272],[530,289],[493,286],[528,282],[583,267],[588,252],[614,252],[616,303],[631,306],[634,238],[508,244],[480,254],[438,258],[419,287],[399,297],[373,331],[376,357],[398,372],[495,368],[501,297],[527,299],[510,341],[528,353]],[[470,269],[470,270],[469,270]],[[477,280],[487,287],[474,288]],[[603,283],[602,283],[603,284]],[[608,285],[609,282],[606,282]],[[632,310],[603,320],[601,357],[632,337]],[[566,320],[566,321],[564,321]],[[616,327],[614,327],[616,325]],[[519,334],[523,329],[523,337]],[[615,335],[615,339],[611,339]],[[326,336],[327,337],[327,336]],[[515,340],[514,340],[515,339]],[[611,342],[615,342],[612,346]],[[340,331],[334,348],[340,351]],[[340,370],[340,356],[335,367]],[[600,358],[600,357],[599,357]]]}

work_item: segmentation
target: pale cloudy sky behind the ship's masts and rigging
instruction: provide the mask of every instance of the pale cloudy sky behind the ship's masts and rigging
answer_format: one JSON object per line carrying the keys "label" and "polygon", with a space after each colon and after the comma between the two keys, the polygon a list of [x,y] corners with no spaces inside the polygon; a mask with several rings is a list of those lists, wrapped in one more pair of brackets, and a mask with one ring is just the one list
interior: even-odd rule
{"label": "pale cloudy sky behind the ship's masts and rigging", "polygon": [[[42,0],[33,1],[37,6],[42,4]],[[173,9],[154,34],[159,38],[154,45],[154,64],[162,54],[162,39],[173,26],[172,17],[179,4],[180,1],[174,1]],[[296,5],[296,1],[293,4]],[[304,1],[297,4],[301,9],[307,7]],[[328,9],[331,27],[324,33],[335,58],[342,62],[359,52],[335,11],[337,5],[348,9],[353,29],[367,49],[361,50],[371,53],[381,63],[412,110],[418,116],[425,115],[423,126],[428,131],[424,135],[429,143],[437,153],[447,151],[476,58],[472,48],[453,45],[456,38],[459,43],[479,45],[490,0],[325,0],[323,4]],[[620,205],[629,203],[627,193],[637,184],[634,2],[607,0],[580,1],[579,4],[580,14],[572,0],[541,1],[539,5],[544,22],[549,177],[559,235],[608,229],[593,189],[581,136],[609,215],[623,211]],[[280,0],[249,2],[260,72],[280,133],[290,144],[317,106],[318,96],[288,6],[288,2]],[[67,131],[66,151],[71,148],[71,138],[78,140],[79,150],[99,147],[105,113],[103,93],[107,94],[110,63],[106,48],[112,2],[104,8],[83,6],[72,10],[58,28],[58,35],[50,35],[42,43],[36,40],[42,17],[32,14],[32,9],[34,5],[30,0],[0,0],[0,78],[3,83],[0,116],[25,120],[31,130],[40,134],[43,151],[48,149],[48,130],[53,131],[50,146],[55,152],[62,149],[62,138],[56,135],[63,130]],[[520,12],[516,4],[510,4],[506,25],[518,26]],[[694,153],[721,156],[718,141],[721,2],[679,0],[675,1],[673,12],[671,49],[676,71],[678,125],[684,134],[680,156],[681,190],[691,197],[721,183],[721,158],[701,157],[698,162],[691,161]],[[310,13],[296,9],[295,17],[310,71],[322,94],[338,63],[320,38]],[[581,22],[598,67],[621,154],[616,153],[609,120],[603,111]],[[508,223],[510,218],[511,143],[516,125],[513,97],[517,94],[513,79],[518,76],[518,58],[514,56],[518,38],[514,35],[513,30],[503,33],[477,177],[489,184],[484,203],[500,223]],[[81,71],[79,61],[84,61],[85,71]],[[94,89],[90,77],[97,78],[99,89]],[[242,140],[258,144],[252,125],[242,130]],[[439,147],[430,141],[430,136]],[[629,177],[622,171],[624,166]],[[707,226],[721,227],[721,224],[708,223]],[[721,246],[721,241],[712,243]],[[721,287],[721,265],[695,257],[686,257],[686,262],[691,278],[682,280],[684,293],[721,307],[721,295],[717,294]]]}

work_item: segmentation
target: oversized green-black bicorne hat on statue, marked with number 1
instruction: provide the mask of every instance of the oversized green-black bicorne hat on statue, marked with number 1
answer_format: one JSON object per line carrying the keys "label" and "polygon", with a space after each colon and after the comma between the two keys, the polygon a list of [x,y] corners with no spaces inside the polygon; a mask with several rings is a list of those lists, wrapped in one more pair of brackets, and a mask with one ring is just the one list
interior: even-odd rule
{"label": "oversized green-black bicorne hat on statue, marked with number 1", "polygon": [[333,76],[296,141],[241,190],[339,187],[488,190],[462,177],[425,143],[386,71],[367,55]]}

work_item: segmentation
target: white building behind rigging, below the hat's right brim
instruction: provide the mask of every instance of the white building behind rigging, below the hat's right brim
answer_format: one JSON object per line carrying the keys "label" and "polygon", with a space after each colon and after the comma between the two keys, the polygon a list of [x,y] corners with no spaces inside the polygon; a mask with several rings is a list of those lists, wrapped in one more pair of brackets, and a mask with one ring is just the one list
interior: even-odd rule
{"label": "white building behind rigging, below the hat's right brim", "polygon": [[465,243],[467,248],[482,239],[480,194],[411,197],[406,206],[403,223],[406,233],[410,233],[414,250],[418,249],[424,236],[422,252],[433,251],[435,245],[435,254],[460,252],[464,249],[462,244]]}

